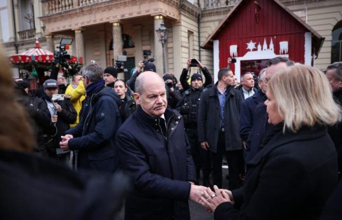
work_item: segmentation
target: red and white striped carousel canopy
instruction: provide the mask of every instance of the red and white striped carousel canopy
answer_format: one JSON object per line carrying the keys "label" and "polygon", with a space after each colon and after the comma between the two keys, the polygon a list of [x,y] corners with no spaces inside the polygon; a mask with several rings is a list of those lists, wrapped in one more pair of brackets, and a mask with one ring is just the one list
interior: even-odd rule
{"label": "red and white striped carousel canopy", "polygon": [[42,49],[39,46],[38,38],[36,39],[35,48],[9,57],[9,62],[12,64],[27,64],[31,61],[46,64],[53,62],[53,52]]}

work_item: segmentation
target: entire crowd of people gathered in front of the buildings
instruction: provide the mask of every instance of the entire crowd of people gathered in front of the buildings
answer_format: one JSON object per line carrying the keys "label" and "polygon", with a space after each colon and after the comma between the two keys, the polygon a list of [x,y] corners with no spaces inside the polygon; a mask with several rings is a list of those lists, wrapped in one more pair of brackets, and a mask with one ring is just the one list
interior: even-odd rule
{"label": "entire crowd of people gathered in front of the buildings", "polygon": [[[34,95],[5,66],[0,217],[23,219],[11,206],[26,205],[28,219],[111,219],[125,201],[126,220],[190,220],[192,200],[215,220],[338,219],[342,62],[324,74],[276,57],[238,83],[231,61],[214,84],[197,59],[179,82],[151,62],[128,81],[91,63],[69,85],[51,74]],[[39,204],[56,210],[38,217]]]}

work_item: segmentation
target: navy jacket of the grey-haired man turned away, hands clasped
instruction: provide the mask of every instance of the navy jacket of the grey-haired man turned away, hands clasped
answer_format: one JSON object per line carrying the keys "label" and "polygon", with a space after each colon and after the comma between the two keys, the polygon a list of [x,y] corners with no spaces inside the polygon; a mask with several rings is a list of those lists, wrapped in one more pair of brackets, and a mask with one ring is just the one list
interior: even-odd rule
{"label": "navy jacket of the grey-haired man turned away, hands clasped", "polygon": [[112,88],[100,87],[83,102],[80,123],[66,131],[71,150],[79,150],[79,168],[114,172],[116,133],[121,125],[120,98]]}

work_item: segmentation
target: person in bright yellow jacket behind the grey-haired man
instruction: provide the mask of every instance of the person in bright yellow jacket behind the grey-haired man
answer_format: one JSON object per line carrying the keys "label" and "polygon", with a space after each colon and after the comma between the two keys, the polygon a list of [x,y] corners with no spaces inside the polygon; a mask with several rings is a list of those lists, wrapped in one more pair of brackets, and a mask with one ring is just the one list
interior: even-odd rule
{"label": "person in bright yellow jacket behind the grey-haired man", "polygon": [[65,96],[70,98],[70,102],[77,111],[77,119],[74,124],[70,124],[70,128],[75,127],[80,121],[80,110],[82,109],[82,101],[85,100],[85,86],[82,82],[82,76],[75,74],[72,77],[71,84],[65,90]]}

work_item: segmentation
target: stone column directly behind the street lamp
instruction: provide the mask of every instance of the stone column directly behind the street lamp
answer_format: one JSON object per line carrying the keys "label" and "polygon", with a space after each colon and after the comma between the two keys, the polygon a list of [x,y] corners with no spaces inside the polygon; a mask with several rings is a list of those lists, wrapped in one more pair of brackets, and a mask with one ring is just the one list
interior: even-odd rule
{"label": "stone column directly behind the street lamp", "polygon": [[[163,75],[163,48],[159,41],[156,30],[160,27],[160,24],[164,22],[164,17],[162,15],[154,16],[154,58],[155,58],[155,68],[159,75]],[[166,68],[166,67],[165,67]]]}

